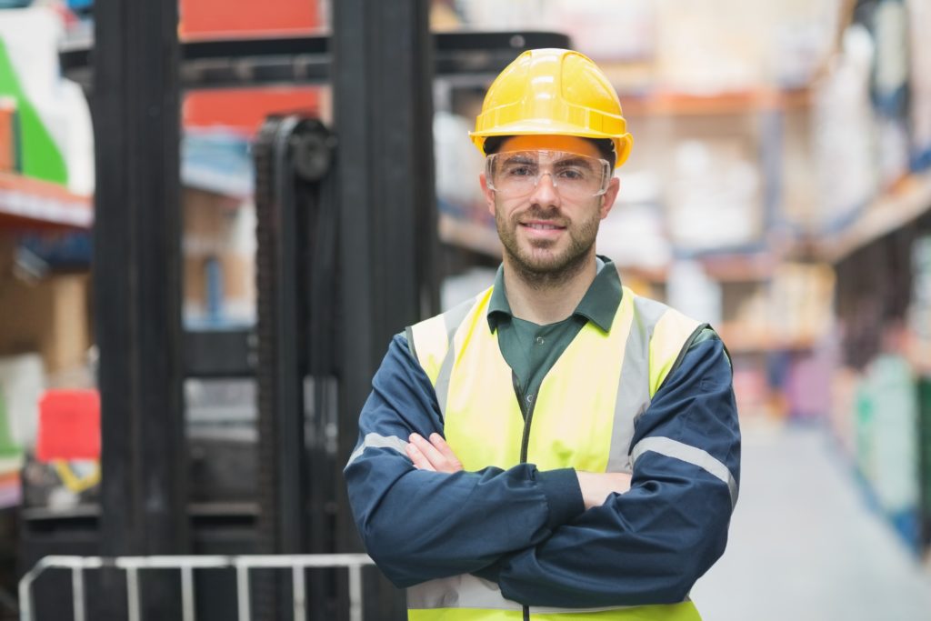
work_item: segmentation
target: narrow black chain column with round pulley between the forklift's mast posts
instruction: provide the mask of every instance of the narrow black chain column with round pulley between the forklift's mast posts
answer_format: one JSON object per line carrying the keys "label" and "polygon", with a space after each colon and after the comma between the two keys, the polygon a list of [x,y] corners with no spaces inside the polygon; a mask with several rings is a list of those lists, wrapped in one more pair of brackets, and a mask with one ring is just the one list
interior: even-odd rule
{"label": "narrow black chain column with round pulley between the forklift's mast posts", "polygon": [[[320,200],[334,146],[322,123],[291,115],[267,120],[253,148],[259,242],[258,530],[265,553],[333,551],[320,541],[331,527],[310,503],[311,497],[332,498],[335,487],[327,467],[332,460],[320,455],[325,412],[317,407],[308,416],[305,401],[323,403],[318,397],[332,373],[326,364],[332,359],[329,339],[315,327],[333,330],[331,317],[320,315],[332,305],[335,283],[320,270],[335,262],[336,252],[319,234],[327,235],[326,223],[336,220],[335,206]],[[323,364],[311,364],[318,358],[324,358]],[[311,583],[315,618],[331,616],[329,590],[319,581]],[[285,618],[289,586],[266,580],[262,591],[256,603],[263,612]]]}

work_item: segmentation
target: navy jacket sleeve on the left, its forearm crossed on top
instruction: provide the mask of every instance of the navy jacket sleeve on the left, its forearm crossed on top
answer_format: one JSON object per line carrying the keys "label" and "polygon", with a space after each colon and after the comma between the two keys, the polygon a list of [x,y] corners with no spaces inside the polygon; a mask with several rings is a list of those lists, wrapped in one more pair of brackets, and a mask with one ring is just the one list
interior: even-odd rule
{"label": "navy jacket sleeve on the left, its forearm crossed on top", "polygon": [[417,470],[404,452],[412,432],[442,433],[442,422],[436,392],[398,334],[372,380],[344,469],[362,541],[398,587],[476,571],[585,510],[571,468]]}

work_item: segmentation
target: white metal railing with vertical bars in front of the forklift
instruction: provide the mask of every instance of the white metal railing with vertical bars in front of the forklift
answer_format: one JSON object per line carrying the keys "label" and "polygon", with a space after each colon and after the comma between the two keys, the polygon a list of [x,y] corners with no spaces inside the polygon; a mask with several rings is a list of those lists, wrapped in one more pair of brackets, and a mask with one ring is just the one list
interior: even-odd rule
{"label": "white metal railing with vertical bars in front of the forklift", "polygon": [[277,554],[247,556],[149,556],[149,557],[71,557],[47,556],[20,579],[20,621],[34,617],[33,583],[47,569],[70,569],[74,621],[87,621],[84,572],[113,567],[126,571],[129,621],[142,621],[139,599],[140,570],[177,569],[181,571],[182,621],[196,621],[194,570],[236,569],[237,621],[251,621],[251,569],[290,569],[294,619],[306,618],[307,594],[304,572],[310,568],[345,567],[349,570],[349,619],[362,621],[362,568],[373,564],[366,554]]}

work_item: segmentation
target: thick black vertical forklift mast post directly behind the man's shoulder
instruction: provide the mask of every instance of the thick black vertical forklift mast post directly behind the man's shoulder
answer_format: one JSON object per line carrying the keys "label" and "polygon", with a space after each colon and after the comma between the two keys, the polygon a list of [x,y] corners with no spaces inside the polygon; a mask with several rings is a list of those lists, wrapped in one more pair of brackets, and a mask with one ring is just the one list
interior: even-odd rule
{"label": "thick black vertical forklift mast post directly behind the man's shoulder", "polygon": [[[427,4],[341,0],[333,15],[333,99],[342,273],[339,453],[358,439],[358,412],[392,334],[438,310],[433,181],[433,60]],[[341,550],[361,549],[339,487]],[[384,578],[367,615],[400,619]]]}

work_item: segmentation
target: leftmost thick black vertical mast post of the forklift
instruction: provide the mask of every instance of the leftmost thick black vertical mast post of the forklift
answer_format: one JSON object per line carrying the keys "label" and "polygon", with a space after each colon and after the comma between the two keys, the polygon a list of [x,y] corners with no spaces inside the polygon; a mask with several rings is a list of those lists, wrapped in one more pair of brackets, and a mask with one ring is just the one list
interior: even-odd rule
{"label": "leftmost thick black vertical mast post of the forklift", "polygon": [[[99,0],[94,302],[101,360],[101,552],[188,550],[182,408],[181,182],[177,3]],[[178,614],[177,581],[143,594],[149,618]],[[118,619],[124,581],[104,574]]]}

